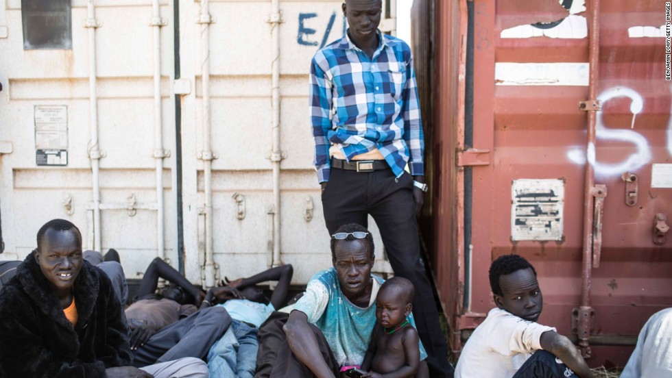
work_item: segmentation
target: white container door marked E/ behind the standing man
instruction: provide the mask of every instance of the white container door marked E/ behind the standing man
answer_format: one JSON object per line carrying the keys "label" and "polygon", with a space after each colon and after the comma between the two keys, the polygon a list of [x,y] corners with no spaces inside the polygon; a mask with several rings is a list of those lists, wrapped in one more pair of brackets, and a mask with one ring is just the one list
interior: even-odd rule
{"label": "white container door marked E/ behind the standing man", "polygon": [[[341,3],[180,3],[179,81],[191,88],[180,104],[184,249],[202,267],[189,277],[210,285],[291,263],[293,281],[307,283],[331,266],[307,74],[313,54],[344,34]],[[395,7],[383,5],[385,31]],[[391,272],[381,251],[376,270]]]}

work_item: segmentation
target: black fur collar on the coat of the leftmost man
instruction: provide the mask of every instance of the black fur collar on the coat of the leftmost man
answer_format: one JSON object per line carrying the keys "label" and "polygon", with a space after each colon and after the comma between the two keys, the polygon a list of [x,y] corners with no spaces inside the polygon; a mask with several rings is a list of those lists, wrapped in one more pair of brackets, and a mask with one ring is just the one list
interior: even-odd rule
{"label": "black fur collar on the coat of the leftmost man", "polygon": [[[96,304],[99,291],[99,280],[95,268],[88,262],[82,262],[82,269],[77,275],[74,285],[75,303],[77,305],[77,320],[76,329],[80,329],[85,325]],[[29,253],[21,264],[16,268],[16,278],[21,281],[23,290],[25,290],[28,297],[30,297],[36,307],[40,309],[45,315],[52,318],[56,323],[67,328],[72,328],[69,320],[58,303],[56,294],[51,291],[49,281],[42,274],[40,266],[35,260],[34,252]]]}

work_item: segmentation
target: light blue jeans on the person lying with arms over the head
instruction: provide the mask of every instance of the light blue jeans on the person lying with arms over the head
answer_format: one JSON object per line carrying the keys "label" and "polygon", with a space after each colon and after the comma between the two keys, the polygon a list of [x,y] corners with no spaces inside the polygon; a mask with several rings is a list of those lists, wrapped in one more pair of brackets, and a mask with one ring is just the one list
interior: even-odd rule
{"label": "light blue jeans on the person lying with arms over the head", "polygon": [[256,370],[256,351],[259,341],[257,329],[233,320],[208,352],[208,370],[211,377],[252,378]]}

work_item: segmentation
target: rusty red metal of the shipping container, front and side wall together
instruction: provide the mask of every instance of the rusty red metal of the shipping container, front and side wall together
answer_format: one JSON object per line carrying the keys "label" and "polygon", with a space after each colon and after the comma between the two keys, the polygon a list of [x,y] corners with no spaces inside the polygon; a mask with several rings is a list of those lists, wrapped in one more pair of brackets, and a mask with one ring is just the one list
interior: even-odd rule
{"label": "rusty red metal of the shipping container, front and side wall together", "polygon": [[[570,30],[579,38],[501,37],[505,29],[548,22],[556,14],[569,18],[570,12],[557,8],[557,0],[533,2],[544,9],[525,8],[529,2],[514,0],[435,3],[433,60],[416,64],[435,70],[429,84],[433,126],[427,134],[434,147],[429,168],[435,183],[431,251],[444,310],[455,327],[453,349],[460,348],[461,331],[478,324],[478,314],[494,307],[488,284],[492,260],[518,253],[538,271],[544,292],[540,323],[570,336],[576,308],[584,315],[584,339],[589,344],[596,340],[590,344],[589,364],[625,364],[632,346],[609,346],[608,340],[636,336],[651,314],[672,306],[672,241],[654,242],[657,214],[672,214],[672,188],[652,185],[659,179],[652,165],[672,164],[672,95],[664,81],[664,38],[652,31],[664,24],[664,9],[653,0],[600,1],[599,58],[592,55],[590,70],[592,1],[588,9],[571,14],[585,20],[585,36]],[[466,59],[460,58],[466,51],[467,5],[473,6],[474,27],[470,144],[464,144],[469,78],[464,77]],[[499,80],[496,68],[509,64],[508,69],[510,63],[531,64],[526,69],[549,78]],[[564,77],[550,77],[557,71]],[[595,71],[592,79],[588,71]],[[587,101],[587,111],[579,109],[579,101]],[[594,136],[588,131],[591,114]],[[587,147],[591,139],[592,151]],[[483,165],[458,164],[470,149],[490,151]],[[467,162],[481,162],[467,156]],[[465,169],[472,170],[470,203],[463,202]],[[587,170],[594,172],[594,182],[586,182],[593,175]],[[627,196],[627,183],[621,179],[625,173],[638,177],[634,205],[622,197]],[[512,242],[510,188],[517,179],[566,182],[562,240]],[[595,183],[604,185],[609,195],[595,197]],[[596,199],[599,208],[594,212]],[[472,210],[470,223],[464,218],[466,207]],[[600,220],[599,239],[599,225],[592,218]],[[471,253],[464,245],[466,231]],[[467,263],[470,269],[465,271]]]}

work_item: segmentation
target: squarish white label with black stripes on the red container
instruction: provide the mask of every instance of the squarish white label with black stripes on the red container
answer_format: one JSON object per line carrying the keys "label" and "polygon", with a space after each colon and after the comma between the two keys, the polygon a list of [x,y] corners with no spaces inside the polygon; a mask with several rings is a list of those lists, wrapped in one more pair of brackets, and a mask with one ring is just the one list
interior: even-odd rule
{"label": "squarish white label with black stripes on the red container", "polygon": [[511,197],[512,240],[562,240],[564,180],[514,180]]}

